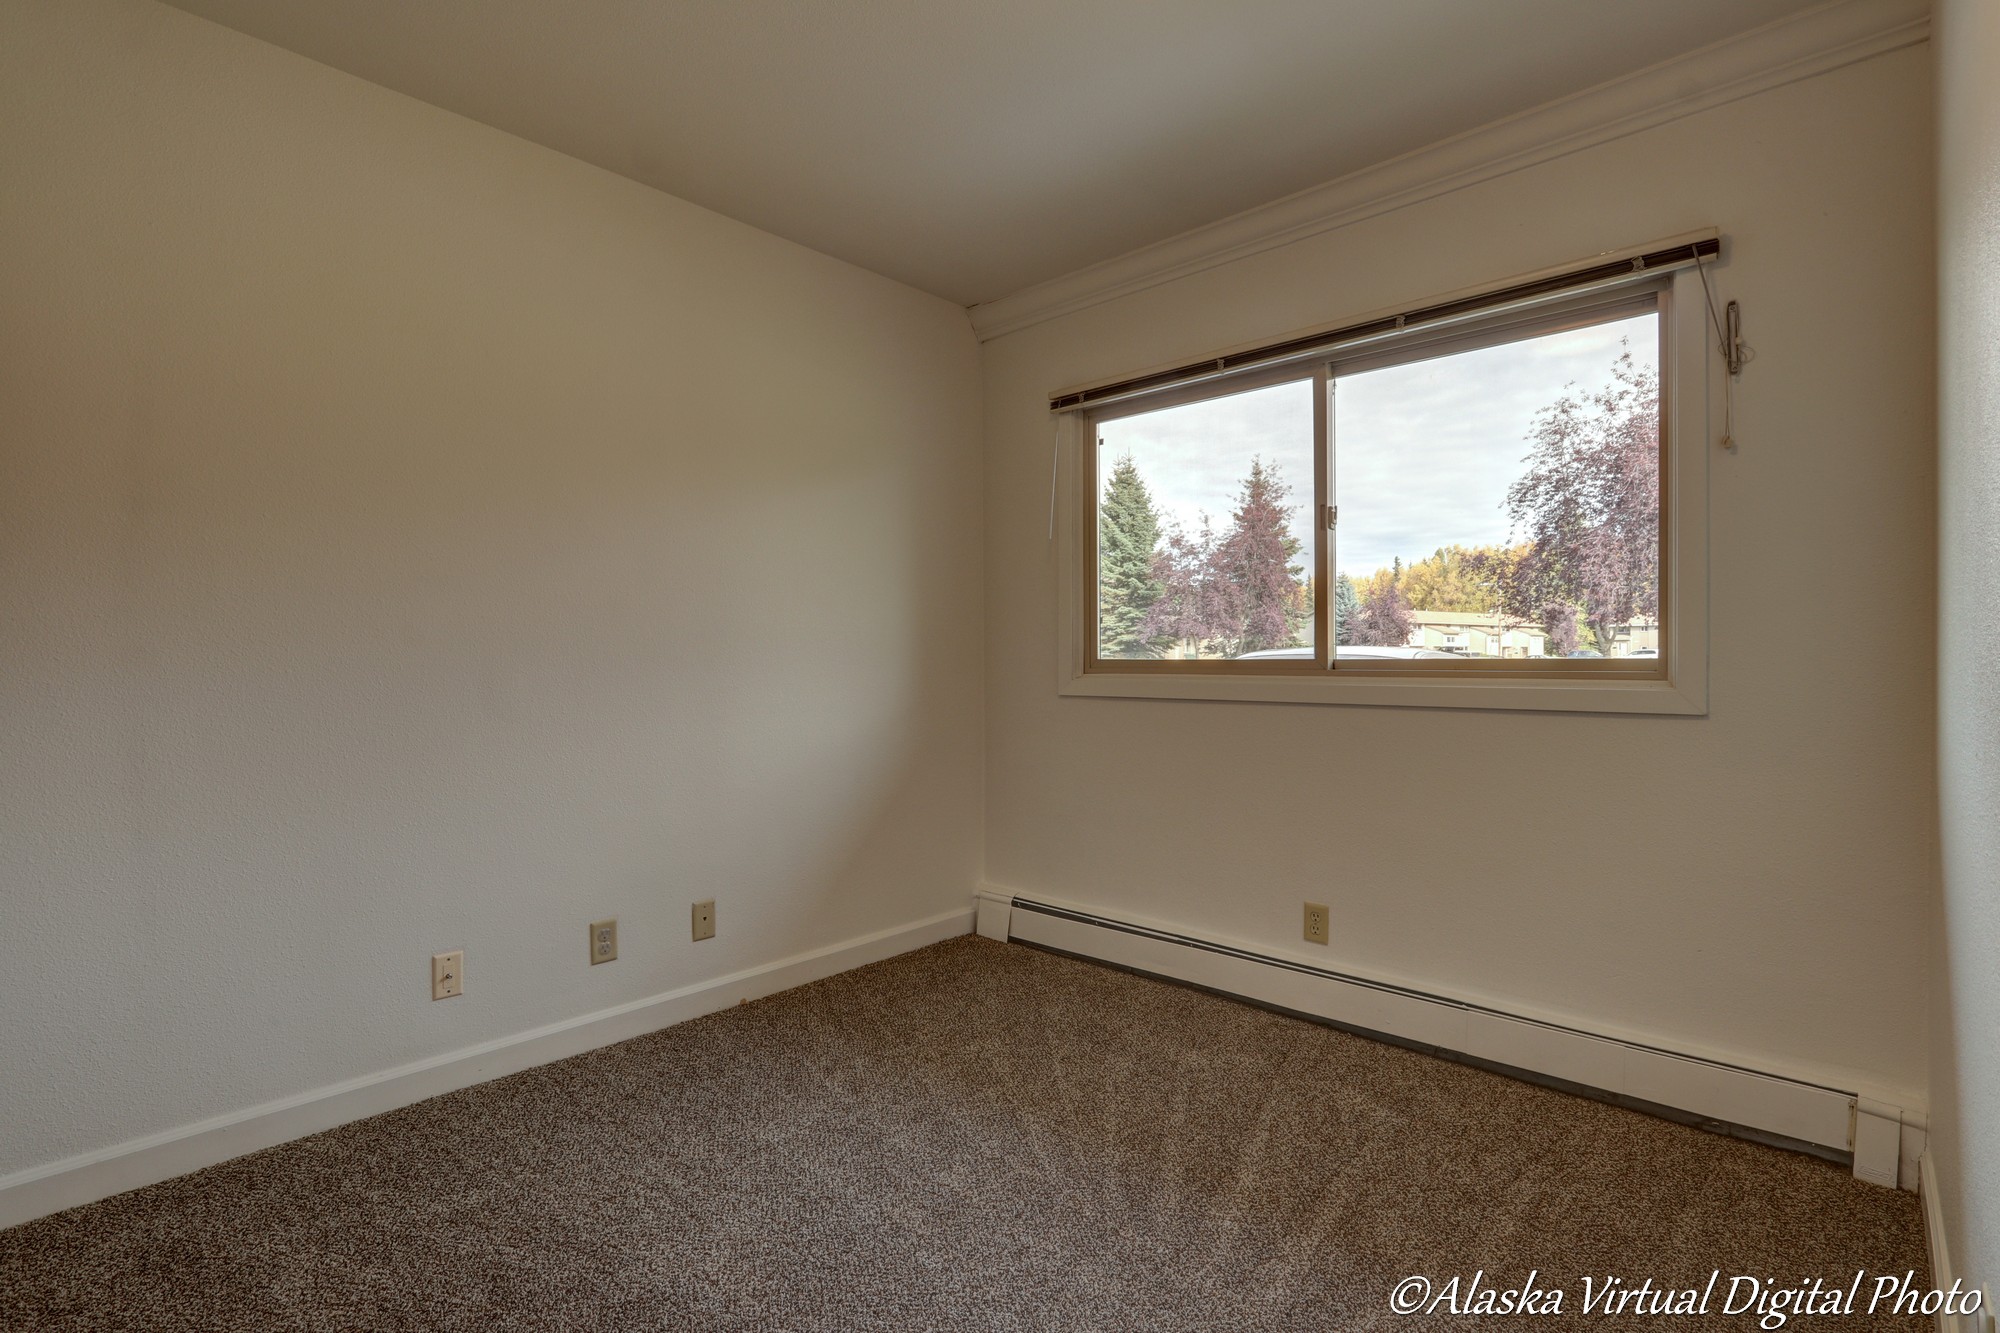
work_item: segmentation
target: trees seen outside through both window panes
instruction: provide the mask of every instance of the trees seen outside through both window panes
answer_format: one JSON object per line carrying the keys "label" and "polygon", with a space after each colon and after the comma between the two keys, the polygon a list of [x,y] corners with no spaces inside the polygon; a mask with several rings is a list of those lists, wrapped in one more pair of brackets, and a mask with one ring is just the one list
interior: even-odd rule
{"label": "trees seen outside through both window panes", "polygon": [[[1540,626],[1548,652],[1610,652],[1614,628],[1658,616],[1660,386],[1630,350],[1594,394],[1566,390],[1528,428],[1526,470],[1502,500],[1514,538],[1398,556],[1332,588],[1336,644],[1410,640],[1414,610],[1490,614]],[[1292,484],[1262,458],[1236,492],[1230,526],[1164,522],[1130,454],[1098,506],[1098,654],[1240,656],[1308,642],[1312,578],[1292,534]]]}

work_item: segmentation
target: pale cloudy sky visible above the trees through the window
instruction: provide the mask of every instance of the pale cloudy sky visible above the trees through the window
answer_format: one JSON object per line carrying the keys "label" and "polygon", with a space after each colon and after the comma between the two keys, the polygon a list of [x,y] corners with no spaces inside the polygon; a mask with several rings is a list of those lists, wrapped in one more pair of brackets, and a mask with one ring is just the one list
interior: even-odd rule
{"label": "pale cloudy sky visible above the trees through the window", "polygon": [[[1508,538],[1506,488],[1524,470],[1536,410],[1610,382],[1630,338],[1656,364],[1656,314],[1344,374],[1334,386],[1334,568],[1360,578],[1438,546]],[[1250,458],[1292,484],[1292,530],[1312,568],[1312,382],[1210,398],[1098,424],[1098,476],[1130,452],[1160,516],[1226,530]]]}

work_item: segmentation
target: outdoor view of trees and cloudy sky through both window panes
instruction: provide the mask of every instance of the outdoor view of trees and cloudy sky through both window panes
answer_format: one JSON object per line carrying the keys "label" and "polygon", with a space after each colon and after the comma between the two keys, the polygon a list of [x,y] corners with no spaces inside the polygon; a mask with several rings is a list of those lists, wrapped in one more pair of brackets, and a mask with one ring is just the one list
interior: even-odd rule
{"label": "outdoor view of trees and cloudy sky through both window panes", "polygon": [[[1644,669],[1660,654],[1660,312],[1330,366],[1096,422],[1096,656]],[[1440,350],[1442,348],[1442,350]]]}

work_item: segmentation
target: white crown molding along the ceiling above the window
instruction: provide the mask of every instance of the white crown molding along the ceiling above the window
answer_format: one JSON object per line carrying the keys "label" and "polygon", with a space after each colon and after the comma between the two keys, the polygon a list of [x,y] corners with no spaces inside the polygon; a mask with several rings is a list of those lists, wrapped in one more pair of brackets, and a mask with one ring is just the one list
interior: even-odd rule
{"label": "white crown molding along the ceiling above the window", "polygon": [[970,308],[978,338],[1074,314],[1930,36],[1928,0],[1832,0]]}

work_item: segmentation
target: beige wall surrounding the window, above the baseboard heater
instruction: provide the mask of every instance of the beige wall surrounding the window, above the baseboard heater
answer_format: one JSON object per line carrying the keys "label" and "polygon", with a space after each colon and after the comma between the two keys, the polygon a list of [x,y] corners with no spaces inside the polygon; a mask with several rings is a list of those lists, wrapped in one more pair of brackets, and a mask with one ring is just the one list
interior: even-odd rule
{"label": "beige wall surrounding the window, above the baseboard heater", "polygon": [[[990,342],[988,879],[1920,1107],[1928,140],[1902,50]],[[1056,695],[1048,390],[1700,226],[1758,350],[1712,717]],[[1844,622],[1870,650],[1792,630]]]}

